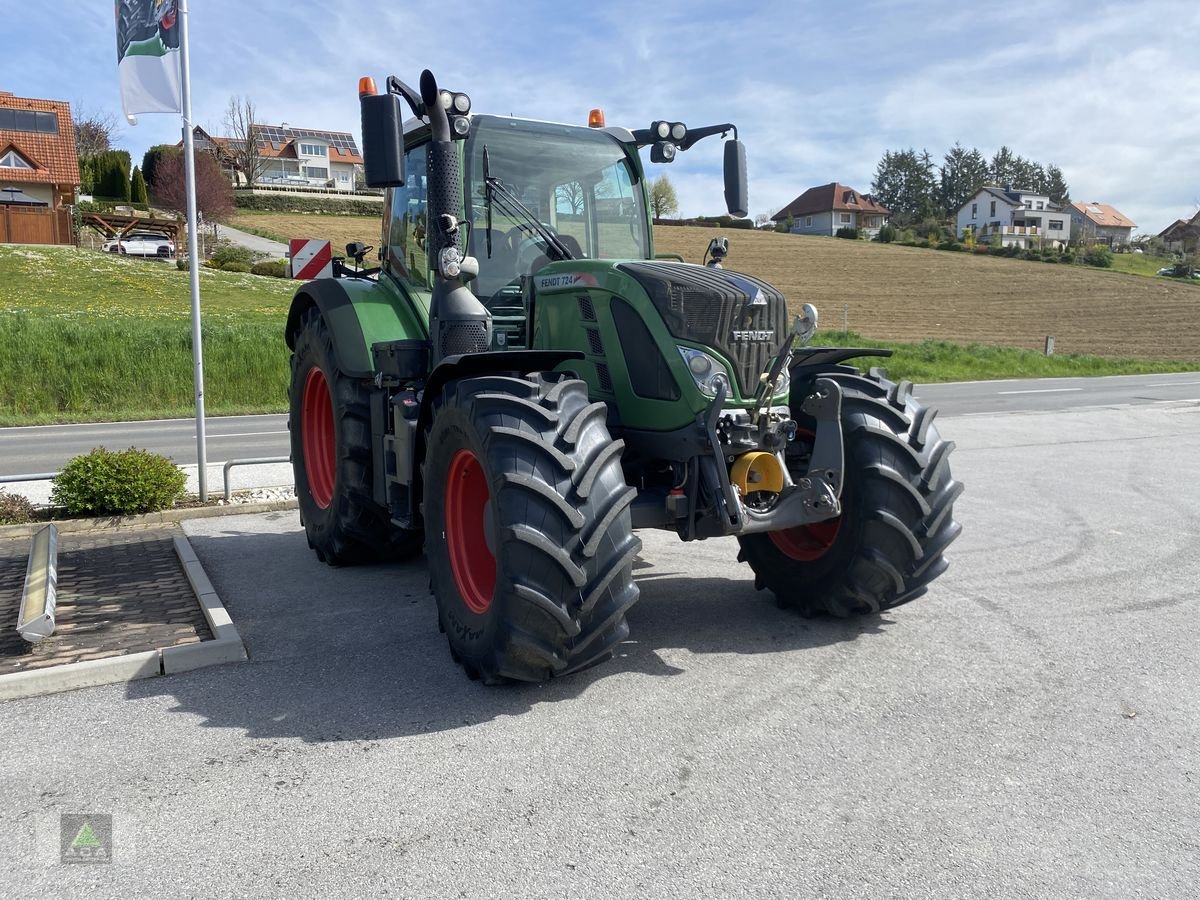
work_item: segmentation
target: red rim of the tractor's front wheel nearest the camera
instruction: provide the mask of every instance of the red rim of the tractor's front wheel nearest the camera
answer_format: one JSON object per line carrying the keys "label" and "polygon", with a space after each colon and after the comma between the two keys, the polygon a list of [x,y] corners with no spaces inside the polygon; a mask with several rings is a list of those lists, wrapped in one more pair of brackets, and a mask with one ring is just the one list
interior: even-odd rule
{"label": "red rim of the tractor's front wheel nearest the camera", "polygon": [[446,473],[446,547],[458,595],[474,613],[487,612],[496,592],[496,557],[487,548],[484,515],[487,476],[470,450],[460,450]]}

